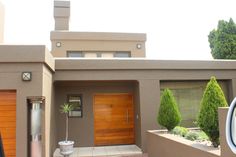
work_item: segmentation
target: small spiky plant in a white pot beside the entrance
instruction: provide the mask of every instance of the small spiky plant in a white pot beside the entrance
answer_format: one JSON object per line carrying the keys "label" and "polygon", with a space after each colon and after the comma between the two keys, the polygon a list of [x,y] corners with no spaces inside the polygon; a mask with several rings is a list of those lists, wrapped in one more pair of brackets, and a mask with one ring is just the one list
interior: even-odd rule
{"label": "small spiky plant in a white pot beside the entrance", "polygon": [[66,116],[66,138],[65,141],[58,142],[60,146],[60,153],[65,157],[69,157],[73,153],[74,141],[68,141],[68,121],[69,112],[75,108],[73,104],[64,103],[61,105],[60,111]]}

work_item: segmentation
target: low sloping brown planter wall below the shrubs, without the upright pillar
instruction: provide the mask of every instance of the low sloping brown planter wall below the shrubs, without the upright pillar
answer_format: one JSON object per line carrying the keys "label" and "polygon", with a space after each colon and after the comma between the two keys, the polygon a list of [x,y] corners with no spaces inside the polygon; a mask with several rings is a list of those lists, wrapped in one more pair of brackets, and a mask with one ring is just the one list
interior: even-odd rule
{"label": "low sloping brown planter wall below the shrubs, without the upright pillar", "polygon": [[220,149],[182,137],[164,133],[163,131],[148,131],[147,152],[149,157],[219,157]]}

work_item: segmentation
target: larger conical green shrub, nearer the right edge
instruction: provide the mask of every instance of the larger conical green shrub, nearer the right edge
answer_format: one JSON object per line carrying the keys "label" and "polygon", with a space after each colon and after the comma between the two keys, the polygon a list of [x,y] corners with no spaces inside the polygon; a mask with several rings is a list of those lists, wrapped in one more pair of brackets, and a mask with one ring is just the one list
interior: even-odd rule
{"label": "larger conical green shrub, nearer the right edge", "polygon": [[228,106],[223,91],[215,77],[211,77],[210,82],[204,91],[201,100],[200,112],[198,115],[198,125],[206,133],[214,147],[218,147],[219,123],[218,107]]}

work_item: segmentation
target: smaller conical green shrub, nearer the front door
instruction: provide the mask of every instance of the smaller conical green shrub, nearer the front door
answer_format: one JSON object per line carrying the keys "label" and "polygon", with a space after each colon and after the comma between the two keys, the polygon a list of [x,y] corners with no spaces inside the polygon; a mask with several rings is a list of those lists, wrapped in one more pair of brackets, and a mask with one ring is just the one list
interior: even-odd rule
{"label": "smaller conical green shrub, nearer the front door", "polygon": [[161,96],[161,104],[157,116],[157,121],[171,131],[181,121],[181,115],[172,92],[165,89]]}

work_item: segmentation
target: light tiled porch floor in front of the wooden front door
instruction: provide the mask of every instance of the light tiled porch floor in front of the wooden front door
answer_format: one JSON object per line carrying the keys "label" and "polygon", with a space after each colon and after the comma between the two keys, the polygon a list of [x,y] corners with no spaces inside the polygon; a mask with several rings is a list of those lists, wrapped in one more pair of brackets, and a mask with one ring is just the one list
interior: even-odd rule
{"label": "light tiled porch floor in front of the wooden front door", "polygon": [[[53,154],[53,157],[63,157],[59,149]],[[70,157],[147,157],[136,145],[119,145],[105,147],[79,147],[74,148]]]}

